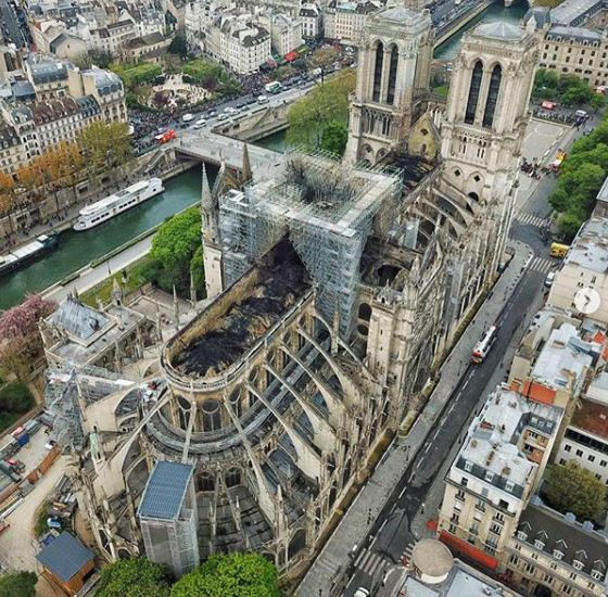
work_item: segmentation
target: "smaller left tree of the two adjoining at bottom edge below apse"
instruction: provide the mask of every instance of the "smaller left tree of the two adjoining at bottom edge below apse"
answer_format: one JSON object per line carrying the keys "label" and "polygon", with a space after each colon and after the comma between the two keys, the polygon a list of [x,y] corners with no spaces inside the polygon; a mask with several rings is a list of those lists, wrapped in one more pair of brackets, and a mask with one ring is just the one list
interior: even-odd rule
{"label": "smaller left tree of the two adjoining at bottom edge below apse", "polygon": [[145,558],[118,560],[106,566],[96,597],[168,597],[167,570]]}

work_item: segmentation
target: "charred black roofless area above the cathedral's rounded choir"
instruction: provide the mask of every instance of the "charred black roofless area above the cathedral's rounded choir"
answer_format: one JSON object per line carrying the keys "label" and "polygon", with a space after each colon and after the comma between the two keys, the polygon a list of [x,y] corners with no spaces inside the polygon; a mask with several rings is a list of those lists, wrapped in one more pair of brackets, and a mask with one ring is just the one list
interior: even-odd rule
{"label": "charred black roofless area above the cathedral's rounded choir", "polygon": [[[217,316],[204,312],[185,328],[186,338],[173,355],[181,373],[204,377],[229,367],[259,340],[312,285],[311,278],[291,243],[279,242],[262,263],[218,297],[233,301]],[[176,340],[179,335],[176,336]]]}

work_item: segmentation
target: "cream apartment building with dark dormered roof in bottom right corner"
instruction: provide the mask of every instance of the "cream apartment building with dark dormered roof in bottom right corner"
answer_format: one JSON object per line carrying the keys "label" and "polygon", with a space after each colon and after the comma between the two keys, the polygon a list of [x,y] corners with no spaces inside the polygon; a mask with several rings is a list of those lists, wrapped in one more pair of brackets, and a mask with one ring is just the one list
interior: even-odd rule
{"label": "cream apartment building with dark dormered roof in bottom right corner", "polygon": [[507,582],[524,595],[606,595],[608,542],[593,523],[533,497],[508,544]]}

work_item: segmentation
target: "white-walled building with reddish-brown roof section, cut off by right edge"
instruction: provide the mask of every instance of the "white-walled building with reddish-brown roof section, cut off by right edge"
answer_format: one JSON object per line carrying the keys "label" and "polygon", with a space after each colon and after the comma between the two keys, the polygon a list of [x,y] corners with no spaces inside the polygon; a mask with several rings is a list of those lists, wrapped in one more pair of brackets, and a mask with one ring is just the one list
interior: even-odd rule
{"label": "white-walled building with reddish-brown roof section, cut off by right edge", "polygon": [[575,460],[608,484],[608,373],[597,376],[577,404],[555,460]]}

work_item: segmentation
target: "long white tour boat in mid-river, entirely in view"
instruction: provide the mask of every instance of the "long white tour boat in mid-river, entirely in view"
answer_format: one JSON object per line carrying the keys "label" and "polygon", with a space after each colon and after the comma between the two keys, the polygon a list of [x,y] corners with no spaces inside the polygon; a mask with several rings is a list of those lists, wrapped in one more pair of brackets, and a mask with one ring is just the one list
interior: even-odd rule
{"label": "long white tour boat in mid-river, entirely in view", "polygon": [[117,193],[83,207],[74,225],[74,230],[88,230],[99,226],[164,190],[163,181],[160,178],[140,180]]}

